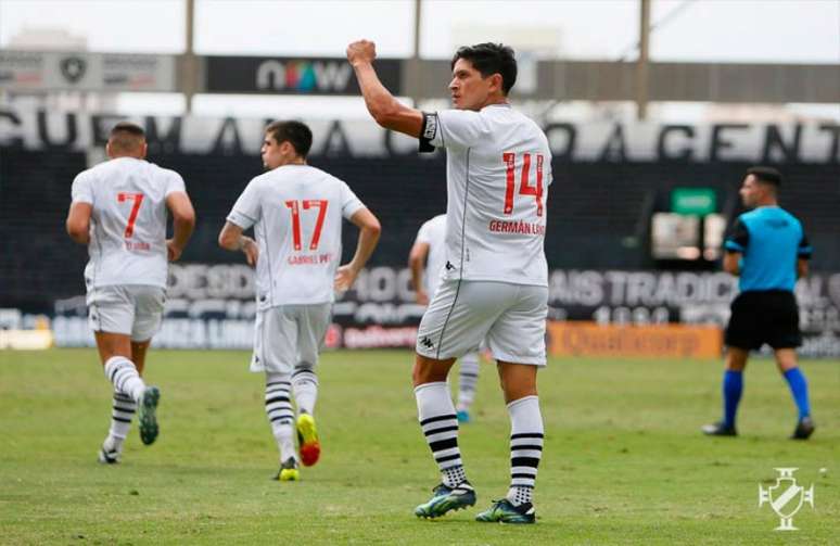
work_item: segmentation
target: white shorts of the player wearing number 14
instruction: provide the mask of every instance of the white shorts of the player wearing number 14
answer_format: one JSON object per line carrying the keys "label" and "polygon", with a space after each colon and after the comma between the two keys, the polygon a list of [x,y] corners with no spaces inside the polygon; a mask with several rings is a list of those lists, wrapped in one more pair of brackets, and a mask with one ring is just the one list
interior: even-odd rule
{"label": "white shorts of the player wearing number 14", "polygon": [[417,332],[417,353],[445,360],[485,341],[496,360],[546,365],[548,288],[495,281],[441,282]]}

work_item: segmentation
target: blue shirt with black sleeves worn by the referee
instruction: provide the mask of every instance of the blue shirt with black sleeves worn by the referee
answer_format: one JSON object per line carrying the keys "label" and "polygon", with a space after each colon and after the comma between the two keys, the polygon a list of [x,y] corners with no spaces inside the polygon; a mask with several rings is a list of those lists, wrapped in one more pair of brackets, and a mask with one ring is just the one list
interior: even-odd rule
{"label": "blue shirt with black sleeves worn by the referee", "polygon": [[797,259],[807,259],[812,252],[802,224],[778,206],[760,206],[738,216],[724,247],[743,255],[741,292],[792,292],[797,283]]}

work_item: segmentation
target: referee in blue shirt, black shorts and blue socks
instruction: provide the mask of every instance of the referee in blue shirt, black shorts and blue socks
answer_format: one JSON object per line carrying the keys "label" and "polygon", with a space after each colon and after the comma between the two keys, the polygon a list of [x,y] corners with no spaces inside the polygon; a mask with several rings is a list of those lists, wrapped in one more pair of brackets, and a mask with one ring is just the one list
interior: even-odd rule
{"label": "referee in blue shirt, black shorts and blue socks", "polygon": [[752,211],[740,215],[727,234],[724,270],[740,277],[740,294],[733,301],[726,327],[726,371],[723,378],[723,420],[702,428],[705,434],[735,436],[735,414],[743,390],[743,369],[751,350],[767,343],[779,372],[790,385],[799,420],[794,440],[814,432],[807,382],[797,364],[802,344],[793,287],[807,275],[811,245],[802,224],[777,204],[781,185],[778,170],[752,167],[740,189],[741,201]]}

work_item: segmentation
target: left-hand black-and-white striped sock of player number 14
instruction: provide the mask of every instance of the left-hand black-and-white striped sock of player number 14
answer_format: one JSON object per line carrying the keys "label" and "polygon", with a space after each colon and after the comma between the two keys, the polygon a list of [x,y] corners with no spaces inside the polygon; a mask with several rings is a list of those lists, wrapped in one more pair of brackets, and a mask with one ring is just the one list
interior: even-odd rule
{"label": "left-hand black-and-white striped sock of player number 14", "polygon": [[424,383],[415,389],[420,428],[432,449],[443,483],[455,487],[467,480],[458,448],[458,419],[445,382]]}

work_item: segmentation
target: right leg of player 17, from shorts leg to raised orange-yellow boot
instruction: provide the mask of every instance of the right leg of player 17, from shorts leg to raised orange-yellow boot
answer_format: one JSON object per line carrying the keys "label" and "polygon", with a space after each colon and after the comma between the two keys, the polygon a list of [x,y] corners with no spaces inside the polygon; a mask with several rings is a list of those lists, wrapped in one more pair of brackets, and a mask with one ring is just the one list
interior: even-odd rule
{"label": "right leg of player 17, from shorts leg to raised orange-yellow boot", "polygon": [[315,424],[315,403],[318,399],[316,368],[327,329],[331,305],[303,305],[298,309],[297,361],[292,373],[292,392],[297,406],[297,443],[304,466],[318,462],[321,443]]}

